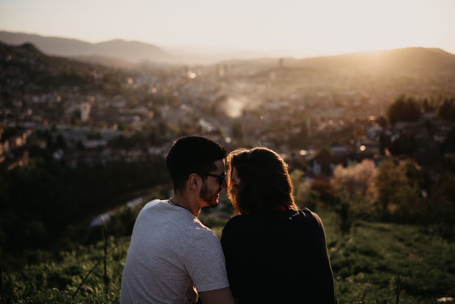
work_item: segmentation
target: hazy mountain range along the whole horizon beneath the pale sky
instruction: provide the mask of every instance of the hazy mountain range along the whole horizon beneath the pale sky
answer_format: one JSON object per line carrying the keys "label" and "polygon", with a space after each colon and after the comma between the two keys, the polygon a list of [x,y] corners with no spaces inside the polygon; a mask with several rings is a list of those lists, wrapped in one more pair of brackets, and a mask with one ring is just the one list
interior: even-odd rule
{"label": "hazy mountain range along the whole horizon beneath the pale sky", "polygon": [[[75,39],[61,37],[45,37],[36,34],[0,31],[0,41],[10,45],[32,43],[37,49],[48,54],[64,57],[75,57],[78,60],[125,67],[141,60],[156,63],[216,63],[235,64],[243,66],[276,66],[278,58],[252,58],[253,54],[234,55],[225,52],[224,55],[204,56],[203,53],[170,52],[155,45],[137,42],[112,40],[92,44]],[[256,54],[260,57],[260,54]],[[238,56],[235,60],[226,60]],[[209,58],[210,57],[210,58]],[[453,72],[455,70],[455,55],[441,49],[404,48],[377,52],[357,52],[335,56],[314,58],[283,58],[285,67],[318,68],[326,70],[377,70],[377,71],[438,71]]]}

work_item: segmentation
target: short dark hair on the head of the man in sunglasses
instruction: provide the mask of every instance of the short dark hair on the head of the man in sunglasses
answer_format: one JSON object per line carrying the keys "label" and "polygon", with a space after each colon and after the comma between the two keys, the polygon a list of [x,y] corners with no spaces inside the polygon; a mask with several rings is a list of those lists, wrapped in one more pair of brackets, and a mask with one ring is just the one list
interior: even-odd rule
{"label": "short dark hair on the head of the man in sunglasses", "polygon": [[175,141],[166,158],[174,191],[185,191],[185,182],[191,173],[217,170],[215,162],[226,158],[226,155],[226,148],[202,136],[187,136]]}

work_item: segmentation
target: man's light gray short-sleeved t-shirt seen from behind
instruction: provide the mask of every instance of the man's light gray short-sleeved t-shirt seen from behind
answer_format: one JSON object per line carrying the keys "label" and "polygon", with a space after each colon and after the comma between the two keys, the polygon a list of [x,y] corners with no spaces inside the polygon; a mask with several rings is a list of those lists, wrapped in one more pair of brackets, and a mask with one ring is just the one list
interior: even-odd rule
{"label": "man's light gray short-sleeved t-shirt seen from behind", "polygon": [[121,279],[120,303],[192,303],[229,287],[216,234],[190,211],[154,200],[139,212]]}

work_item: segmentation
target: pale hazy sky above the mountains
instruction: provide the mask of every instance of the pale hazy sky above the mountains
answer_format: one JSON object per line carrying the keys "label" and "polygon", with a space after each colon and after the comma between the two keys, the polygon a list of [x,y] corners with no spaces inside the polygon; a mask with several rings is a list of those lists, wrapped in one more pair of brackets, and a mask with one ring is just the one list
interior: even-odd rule
{"label": "pale hazy sky above the mountains", "polygon": [[0,29],[297,57],[408,46],[455,53],[455,0],[0,0]]}

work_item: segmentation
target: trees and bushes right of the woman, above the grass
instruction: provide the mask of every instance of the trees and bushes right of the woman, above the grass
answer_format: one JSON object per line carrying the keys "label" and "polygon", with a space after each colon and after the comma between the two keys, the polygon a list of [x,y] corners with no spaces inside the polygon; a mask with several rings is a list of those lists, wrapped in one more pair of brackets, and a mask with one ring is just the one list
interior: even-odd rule
{"label": "trees and bushes right of the woman, above the grass", "polygon": [[315,209],[320,202],[333,207],[339,227],[350,232],[357,220],[430,224],[443,237],[455,237],[455,158],[434,171],[411,159],[389,159],[378,167],[372,160],[349,167],[338,165],[328,183],[307,184],[293,172],[296,197]]}

